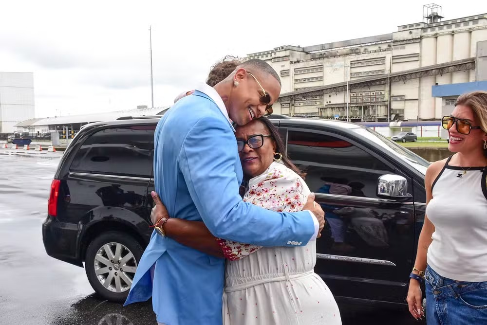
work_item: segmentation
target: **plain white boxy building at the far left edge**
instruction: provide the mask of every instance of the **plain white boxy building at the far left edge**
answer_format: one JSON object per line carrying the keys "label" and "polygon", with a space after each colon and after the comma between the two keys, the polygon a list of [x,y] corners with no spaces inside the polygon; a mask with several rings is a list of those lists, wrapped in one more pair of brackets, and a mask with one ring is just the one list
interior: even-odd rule
{"label": "plain white boxy building at the far left edge", "polygon": [[0,133],[13,133],[16,124],[34,116],[34,74],[0,72]]}

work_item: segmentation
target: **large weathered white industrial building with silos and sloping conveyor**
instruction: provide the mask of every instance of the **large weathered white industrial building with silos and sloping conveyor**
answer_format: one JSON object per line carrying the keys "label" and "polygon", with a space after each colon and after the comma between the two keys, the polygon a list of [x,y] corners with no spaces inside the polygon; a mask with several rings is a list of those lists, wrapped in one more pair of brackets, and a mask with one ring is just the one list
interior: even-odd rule
{"label": "large weathered white industrial building with silos and sloping conveyor", "polygon": [[444,20],[440,6],[423,9],[422,22],[391,34],[281,46],[246,59],[266,60],[280,73],[276,113],[345,120],[348,111],[354,122],[439,119],[442,99],[431,96],[431,87],[476,81],[487,14]]}

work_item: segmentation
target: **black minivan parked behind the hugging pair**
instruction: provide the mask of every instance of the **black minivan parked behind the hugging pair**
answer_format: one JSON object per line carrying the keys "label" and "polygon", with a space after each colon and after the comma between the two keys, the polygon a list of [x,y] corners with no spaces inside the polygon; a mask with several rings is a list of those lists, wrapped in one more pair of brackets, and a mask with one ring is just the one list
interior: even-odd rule
{"label": "black minivan parked behind the hugging pair", "polygon": [[[84,267],[103,298],[126,299],[147,246],[158,117],[83,127],[51,185],[46,252]],[[318,273],[338,297],[405,303],[429,162],[353,123],[276,116],[287,154],[326,212]]]}

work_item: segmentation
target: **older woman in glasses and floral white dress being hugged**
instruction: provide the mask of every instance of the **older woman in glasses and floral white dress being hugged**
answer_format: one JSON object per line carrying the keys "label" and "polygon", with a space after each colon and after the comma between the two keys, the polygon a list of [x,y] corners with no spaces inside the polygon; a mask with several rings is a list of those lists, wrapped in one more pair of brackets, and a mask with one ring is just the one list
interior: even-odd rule
{"label": "older woman in glasses and floral white dress being hugged", "polygon": [[[238,126],[235,136],[244,170],[244,201],[278,212],[301,211],[311,193],[304,175],[285,155],[272,122],[253,120]],[[154,201],[151,218],[158,220],[167,211],[157,197]],[[224,325],[341,324],[333,294],[313,271],[316,241],[290,242],[294,247],[255,246],[215,238],[203,222],[174,217],[164,224],[169,238],[227,259]]]}

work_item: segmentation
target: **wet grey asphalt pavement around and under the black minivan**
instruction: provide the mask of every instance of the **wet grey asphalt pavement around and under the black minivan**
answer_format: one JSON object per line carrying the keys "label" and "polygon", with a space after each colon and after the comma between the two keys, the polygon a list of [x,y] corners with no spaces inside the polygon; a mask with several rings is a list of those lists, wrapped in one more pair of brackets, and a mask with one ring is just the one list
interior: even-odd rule
{"label": "wet grey asphalt pavement around and under the black minivan", "polygon": [[[150,302],[101,300],[84,269],[46,254],[41,226],[61,155],[0,149],[0,325],[156,325]],[[344,325],[418,324],[403,306],[339,307]]]}

